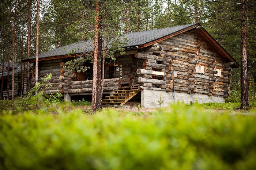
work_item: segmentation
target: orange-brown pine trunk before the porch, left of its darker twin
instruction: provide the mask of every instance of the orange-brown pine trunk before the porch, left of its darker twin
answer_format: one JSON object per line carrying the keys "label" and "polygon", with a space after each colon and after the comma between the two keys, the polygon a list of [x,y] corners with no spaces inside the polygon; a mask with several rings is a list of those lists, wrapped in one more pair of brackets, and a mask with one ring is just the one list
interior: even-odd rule
{"label": "orange-brown pine trunk before the porch, left of its darker twin", "polygon": [[99,0],[95,0],[95,23],[94,23],[94,51],[93,51],[93,88],[91,98],[91,109],[93,113],[97,109],[97,68],[98,68],[98,31],[99,31]]}

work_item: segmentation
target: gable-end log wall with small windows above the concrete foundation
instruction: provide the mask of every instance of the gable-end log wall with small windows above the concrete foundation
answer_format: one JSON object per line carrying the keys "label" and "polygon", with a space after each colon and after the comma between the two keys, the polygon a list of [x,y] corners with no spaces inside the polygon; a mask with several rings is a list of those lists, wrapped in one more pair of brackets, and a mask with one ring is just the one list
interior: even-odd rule
{"label": "gable-end log wall with small windows above the concrete foundation", "polygon": [[[165,88],[166,91],[177,90],[182,93],[217,97],[228,97],[230,94],[229,77],[232,76],[230,65],[233,63],[223,63],[222,59],[193,31],[181,33],[153,46],[154,48],[148,47],[149,52],[145,49],[135,54],[136,58],[144,59],[143,70],[137,69],[143,87],[150,88],[152,84],[152,88]],[[198,50],[200,50],[199,55],[197,55]],[[195,72],[197,64],[204,67],[203,74]],[[221,77],[216,76],[215,68],[221,69]],[[173,70],[177,71],[176,78],[172,74]],[[157,72],[164,72],[165,75],[160,76]],[[170,85],[160,83],[159,80]]]}

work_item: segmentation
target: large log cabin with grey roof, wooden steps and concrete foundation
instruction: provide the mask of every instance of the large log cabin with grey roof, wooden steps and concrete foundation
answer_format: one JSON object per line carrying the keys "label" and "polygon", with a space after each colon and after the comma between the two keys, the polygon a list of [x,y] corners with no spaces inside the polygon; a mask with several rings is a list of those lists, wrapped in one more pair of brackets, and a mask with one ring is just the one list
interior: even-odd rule
{"label": "large log cabin with grey roof, wooden steps and concrete foundation", "polygon": [[[137,98],[142,107],[154,108],[159,107],[160,96],[162,106],[175,101],[224,103],[229,97],[231,71],[239,64],[200,23],[124,36],[129,40],[125,54],[116,61],[106,59],[103,105],[123,105]],[[41,87],[44,92],[61,92],[67,101],[91,97],[93,70],[68,73],[64,68],[65,62],[91,51],[93,41],[89,40],[39,54],[39,80],[53,75],[49,81],[52,87]],[[34,63],[35,56],[22,61]],[[93,64],[85,65],[92,68]]]}

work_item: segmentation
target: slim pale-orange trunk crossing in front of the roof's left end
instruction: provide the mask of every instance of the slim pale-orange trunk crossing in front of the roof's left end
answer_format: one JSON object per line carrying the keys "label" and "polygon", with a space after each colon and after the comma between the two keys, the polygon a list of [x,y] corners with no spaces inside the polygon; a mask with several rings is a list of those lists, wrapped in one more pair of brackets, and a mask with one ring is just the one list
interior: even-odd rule
{"label": "slim pale-orange trunk crossing in front of the roof's left end", "polygon": [[[37,0],[37,34],[35,45],[35,85],[38,84],[38,55],[39,55],[39,5],[40,1]],[[37,92],[36,92],[37,94]]]}

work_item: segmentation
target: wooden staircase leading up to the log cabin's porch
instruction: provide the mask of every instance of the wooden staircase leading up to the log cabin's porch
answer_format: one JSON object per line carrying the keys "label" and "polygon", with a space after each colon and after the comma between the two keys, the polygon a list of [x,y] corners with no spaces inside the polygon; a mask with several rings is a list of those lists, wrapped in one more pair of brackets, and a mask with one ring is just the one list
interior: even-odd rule
{"label": "wooden staircase leading up to the log cabin's porch", "polygon": [[139,92],[140,89],[138,89],[136,85],[129,88],[118,88],[118,90],[114,90],[113,93],[110,93],[110,96],[106,96],[108,99],[102,100],[102,105],[122,106]]}

